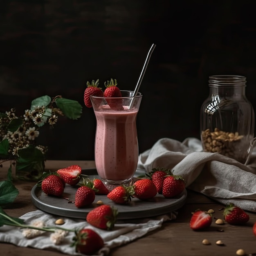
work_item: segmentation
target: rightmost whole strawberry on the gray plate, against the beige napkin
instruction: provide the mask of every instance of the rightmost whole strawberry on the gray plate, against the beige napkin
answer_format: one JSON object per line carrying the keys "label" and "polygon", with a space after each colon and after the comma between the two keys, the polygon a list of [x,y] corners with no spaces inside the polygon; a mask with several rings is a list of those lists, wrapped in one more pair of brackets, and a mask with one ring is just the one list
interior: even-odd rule
{"label": "rightmost whole strawberry on the gray plate, against the beige napkin", "polygon": [[185,181],[182,176],[168,175],[163,181],[163,196],[165,198],[172,198],[182,193],[185,189]]}

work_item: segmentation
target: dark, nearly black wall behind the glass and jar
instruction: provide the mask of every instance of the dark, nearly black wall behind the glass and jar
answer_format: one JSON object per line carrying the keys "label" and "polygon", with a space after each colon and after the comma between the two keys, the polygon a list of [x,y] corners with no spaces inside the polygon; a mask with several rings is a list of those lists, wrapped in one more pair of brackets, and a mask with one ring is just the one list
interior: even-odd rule
{"label": "dark, nearly black wall behind the glass and jar", "polygon": [[79,120],[43,127],[48,159],[94,159],[95,118],[83,103],[86,81],[111,77],[132,90],[148,49],[157,46],[141,84],[139,152],[158,139],[199,138],[208,77],[247,77],[256,109],[254,1],[1,0],[0,110],[61,94],[83,106]]}

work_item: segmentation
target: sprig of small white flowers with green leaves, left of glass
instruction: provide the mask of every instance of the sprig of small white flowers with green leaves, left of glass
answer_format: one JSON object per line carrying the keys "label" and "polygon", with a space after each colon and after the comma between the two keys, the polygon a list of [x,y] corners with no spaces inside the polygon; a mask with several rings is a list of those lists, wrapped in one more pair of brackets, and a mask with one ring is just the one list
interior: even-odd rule
{"label": "sprig of small white flowers with green leaves, left of glass", "polygon": [[0,167],[7,160],[15,164],[21,159],[21,169],[29,162],[44,160],[48,148],[36,143],[40,127],[49,124],[53,128],[59,116],[78,119],[81,113],[82,106],[77,101],[60,95],[34,99],[21,117],[16,116],[15,108],[0,113]]}

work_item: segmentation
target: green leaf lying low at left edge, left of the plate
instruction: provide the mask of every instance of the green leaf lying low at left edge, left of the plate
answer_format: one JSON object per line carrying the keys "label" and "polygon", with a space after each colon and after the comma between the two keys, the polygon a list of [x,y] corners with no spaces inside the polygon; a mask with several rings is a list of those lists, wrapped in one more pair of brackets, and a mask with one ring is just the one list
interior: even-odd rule
{"label": "green leaf lying low at left edge, left of the plate", "polygon": [[12,203],[18,194],[18,189],[11,181],[3,180],[0,182],[0,205]]}

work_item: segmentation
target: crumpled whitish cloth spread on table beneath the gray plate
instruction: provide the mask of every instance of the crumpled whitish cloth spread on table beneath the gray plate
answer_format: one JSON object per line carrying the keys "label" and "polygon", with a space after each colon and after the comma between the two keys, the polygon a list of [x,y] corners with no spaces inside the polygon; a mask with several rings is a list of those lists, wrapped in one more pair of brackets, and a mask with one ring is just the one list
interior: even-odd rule
{"label": "crumpled whitish cloth spread on table beneath the gray plate", "polygon": [[[105,242],[104,247],[100,249],[96,255],[103,256],[108,255],[111,248],[130,243],[131,241],[144,236],[148,232],[161,227],[163,222],[175,219],[176,214],[177,213],[172,212],[170,214],[165,214],[154,218],[133,219],[126,221],[119,220],[115,224],[115,228],[112,231],[97,229],[84,220],[61,217],[65,221],[65,224],[61,225],[61,227],[65,227],[67,229],[81,229],[86,227],[96,231]],[[47,227],[56,226],[55,221],[58,218],[60,218],[60,216],[54,216],[41,210],[31,211],[23,216],[20,216],[20,219],[25,220],[27,225],[31,225],[31,222],[34,220],[42,220]],[[22,229],[19,227],[3,226],[0,227],[0,242],[12,243],[20,247],[57,250],[69,255],[84,255],[76,253],[74,247],[70,247],[72,244],[72,238],[74,237],[74,232],[69,232],[60,245],[55,245],[50,240],[51,233],[52,232],[45,232],[39,236],[29,239],[22,235]]]}

